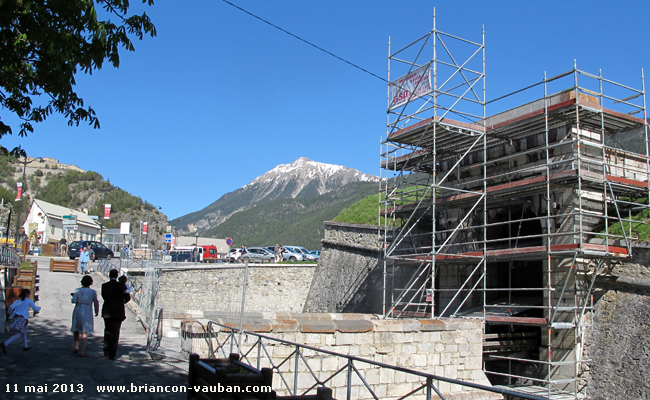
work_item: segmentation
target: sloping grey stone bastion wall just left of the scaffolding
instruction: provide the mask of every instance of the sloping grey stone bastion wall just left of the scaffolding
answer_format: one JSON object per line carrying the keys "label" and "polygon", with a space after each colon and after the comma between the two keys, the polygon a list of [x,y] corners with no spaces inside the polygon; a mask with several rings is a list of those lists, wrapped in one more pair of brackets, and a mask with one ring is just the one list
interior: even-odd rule
{"label": "sloping grey stone bastion wall just left of the scaffolding", "polygon": [[325,222],[318,268],[304,312],[382,313],[383,264],[377,226]]}

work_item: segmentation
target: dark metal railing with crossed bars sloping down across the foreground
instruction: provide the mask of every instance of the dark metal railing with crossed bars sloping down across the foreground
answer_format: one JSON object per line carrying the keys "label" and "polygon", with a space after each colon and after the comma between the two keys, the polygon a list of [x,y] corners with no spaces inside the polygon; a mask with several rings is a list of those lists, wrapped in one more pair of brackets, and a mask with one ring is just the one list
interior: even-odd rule
{"label": "dark metal railing with crossed bars sloping down across the foreground", "polygon": [[[199,329],[189,328],[188,324],[198,325]],[[258,370],[271,368],[274,374],[273,389],[282,395],[315,394],[318,387],[330,387],[335,392],[335,398],[348,400],[380,398],[444,400],[443,392],[453,392],[450,397],[466,393],[468,398],[474,398],[469,392],[490,392],[508,398],[545,399],[366,360],[258,333],[243,332],[241,329],[214,321],[208,321],[207,325],[188,321],[185,322],[184,331],[201,332],[188,333],[187,339],[205,341],[211,358],[226,358],[231,353],[238,353],[242,362]],[[322,368],[325,363],[336,367],[325,371],[326,368]],[[393,376],[395,383],[390,384],[387,380],[380,383],[381,380],[377,377],[381,373],[384,377]],[[368,375],[374,375],[375,379],[371,382]]]}

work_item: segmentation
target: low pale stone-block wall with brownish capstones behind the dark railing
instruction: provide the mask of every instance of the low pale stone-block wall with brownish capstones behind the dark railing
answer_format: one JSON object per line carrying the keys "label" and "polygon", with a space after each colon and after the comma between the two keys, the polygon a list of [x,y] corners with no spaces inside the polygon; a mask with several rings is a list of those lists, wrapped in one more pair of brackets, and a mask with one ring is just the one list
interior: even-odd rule
{"label": "low pale stone-block wall with brownish capstones behind the dark railing", "polygon": [[[226,318],[211,315],[216,322],[227,323]],[[482,371],[483,328],[480,321],[461,319],[440,320],[380,320],[368,314],[299,314],[299,313],[260,313],[247,314],[245,326],[249,332],[331,351],[339,354],[357,356],[384,364],[404,367],[431,373],[452,379],[460,379],[490,386]],[[201,321],[203,326],[207,320]],[[208,356],[209,345],[198,324],[185,324],[183,349]],[[188,333],[189,332],[189,333]],[[220,332],[221,343],[227,332]],[[221,336],[223,335],[223,336]],[[243,344],[246,352],[256,343],[257,337],[247,335]],[[294,371],[295,356],[291,356],[294,346],[281,345],[264,340],[266,352],[275,363],[284,363],[287,371]],[[217,341],[213,339],[213,348]],[[256,364],[257,351],[247,356],[249,362]],[[262,353],[264,354],[264,353]],[[347,360],[334,355],[303,351],[308,364],[320,380],[344,368]],[[268,366],[268,361],[261,358],[261,367]],[[378,368],[370,364],[354,363],[364,380],[381,399],[396,399],[418,388],[422,379],[394,370]],[[283,371],[284,372],[284,371]],[[289,374],[290,376],[291,374]],[[293,378],[285,378],[293,387]],[[334,390],[334,397],[344,399],[346,393],[346,373],[339,373],[326,386]],[[352,398],[370,399],[359,379],[353,380]],[[306,390],[313,385],[314,379],[307,367],[301,362],[298,367],[298,388]],[[283,387],[278,373],[274,373],[273,388],[279,394],[287,392],[278,390]],[[439,382],[438,388],[447,399],[494,399],[500,398],[487,392],[468,390],[462,386]],[[409,397],[410,398],[410,397]],[[413,397],[424,398],[424,394]]]}

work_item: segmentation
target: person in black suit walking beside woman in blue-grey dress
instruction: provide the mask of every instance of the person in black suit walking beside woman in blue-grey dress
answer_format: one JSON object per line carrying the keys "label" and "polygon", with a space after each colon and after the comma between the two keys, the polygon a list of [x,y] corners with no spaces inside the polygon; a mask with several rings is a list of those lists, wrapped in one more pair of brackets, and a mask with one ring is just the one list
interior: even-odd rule
{"label": "person in black suit walking beside woman in blue-grey dress", "polygon": [[114,360],[117,354],[117,342],[120,340],[120,328],[126,319],[124,304],[131,300],[126,293],[126,286],[117,281],[119,275],[116,269],[108,273],[110,281],[102,285],[102,318],[104,318],[104,357]]}

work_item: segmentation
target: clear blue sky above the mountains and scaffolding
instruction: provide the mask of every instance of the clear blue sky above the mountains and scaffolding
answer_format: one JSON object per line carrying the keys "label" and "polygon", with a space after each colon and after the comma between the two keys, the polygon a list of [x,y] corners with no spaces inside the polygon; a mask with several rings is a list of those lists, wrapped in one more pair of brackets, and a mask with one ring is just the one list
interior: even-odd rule
{"label": "clear blue sky above the mountains and scaffolding", "polygon": [[[480,42],[485,25],[488,100],[574,59],[636,88],[650,74],[646,1],[232,2],[381,77],[389,36],[393,49],[423,36],[434,6],[444,32]],[[385,82],[220,0],[144,8],[158,36],[135,41],[119,69],[77,77],[101,129],[50,117],[2,145],[99,172],[170,219],[299,157],[379,175]]]}

